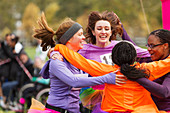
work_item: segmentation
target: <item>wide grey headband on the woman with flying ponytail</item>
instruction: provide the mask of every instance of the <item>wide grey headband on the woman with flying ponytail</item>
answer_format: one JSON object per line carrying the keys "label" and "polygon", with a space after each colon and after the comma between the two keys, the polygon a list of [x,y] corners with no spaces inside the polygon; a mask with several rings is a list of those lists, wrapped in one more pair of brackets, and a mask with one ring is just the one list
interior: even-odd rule
{"label": "wide grey headband on the woman with flying ponytail", "polygon": [[77,31],[79,29],[81,29],[82,26],[79,24],[79,23],[75,23],[73,24],[62,36],[61,38],[59,39],[59,42],[62,43],[62,44],[66,44],[68,42],[68,40],[73,37],[73,35],[75,33],[77,33]]}

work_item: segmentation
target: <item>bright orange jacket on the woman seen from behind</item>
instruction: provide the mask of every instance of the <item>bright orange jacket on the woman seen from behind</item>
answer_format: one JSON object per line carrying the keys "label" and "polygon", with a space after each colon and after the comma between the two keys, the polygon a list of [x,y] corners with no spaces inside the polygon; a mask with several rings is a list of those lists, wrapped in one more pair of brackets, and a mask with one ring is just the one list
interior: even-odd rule
{"label": "bright orange jacket on the woman seen from behind", "polygon": [[[119,66],[107,65],[93,60],[85,59],[80,54],[69,50],[66,46],[58,44],[55,49],[59,51],[75,67],[92,76],[102,76],[116,71]],[[165,60],[151,63],[136,63],[137,67],[147,68],[150,71],[150,80],[155,80],[170,72],[170,56]],[[121,74],[117,72],[117,74]],[[158,113],[150,93],[134,81],[127,81],[122,86],[105,84],[102,106],[104,111],[131,111],[133,113]]]}

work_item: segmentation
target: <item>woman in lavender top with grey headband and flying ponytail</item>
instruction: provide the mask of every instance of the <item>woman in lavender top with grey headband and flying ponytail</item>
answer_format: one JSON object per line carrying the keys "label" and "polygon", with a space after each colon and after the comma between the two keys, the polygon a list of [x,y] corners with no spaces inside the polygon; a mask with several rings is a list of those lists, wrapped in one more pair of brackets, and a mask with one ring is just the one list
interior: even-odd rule
{"label": "woman in lavender top with grey headband and flying ponytail", "polygon": [[[48,46],[55,46],[54,35],[56,35],[59,43],[64,44],[69,49],[75,52],[82,49],[85,39],[83,29],[80,24],[73,20],[65,20],[60,24],[58,30],[54,32],[47,25],[43,13],[38,24],[40,28],[35,29],[34,37],[42,40],[41,46],[43,50],[47,50]],[[43,78],[50,78],[51,88],[46,104],[47,110],[53,113],[79,113],[79,87],[115,83],[115,74],[113,73],[102,77],[76,77],[76,75],[80,74],[82,74],[80,70],[65,59],[63,61],[50,59],[46,62],[40,75]]]}

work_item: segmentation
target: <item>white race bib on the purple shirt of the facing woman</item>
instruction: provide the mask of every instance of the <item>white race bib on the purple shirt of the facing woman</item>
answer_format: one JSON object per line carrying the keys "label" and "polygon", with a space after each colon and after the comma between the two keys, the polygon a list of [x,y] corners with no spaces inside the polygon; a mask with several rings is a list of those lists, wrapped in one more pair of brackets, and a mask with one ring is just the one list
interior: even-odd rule
{"label": "white race bib on the purple shirt of the facing woman", "polygon": [[102,61],[102,63],[109,64],[109,65],[114,65],[114,63],[112,62],[111,53],[100,55],[100,60]]}

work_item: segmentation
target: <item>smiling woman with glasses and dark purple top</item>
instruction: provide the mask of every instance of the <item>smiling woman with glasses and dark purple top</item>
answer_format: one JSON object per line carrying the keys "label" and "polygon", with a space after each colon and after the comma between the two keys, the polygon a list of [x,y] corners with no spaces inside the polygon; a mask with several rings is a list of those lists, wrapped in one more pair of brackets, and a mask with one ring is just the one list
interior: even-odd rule
{"label": "smiling woman with glasses and dark purple top", "polygon": [[[170,54],[170,31],[152,31],[148,37],[148,51],[153,61],[166,59]],[[159,110],[170,112],[170,73],[154,82],[145,78],[138,79],[137,82],[151,92]]]}

